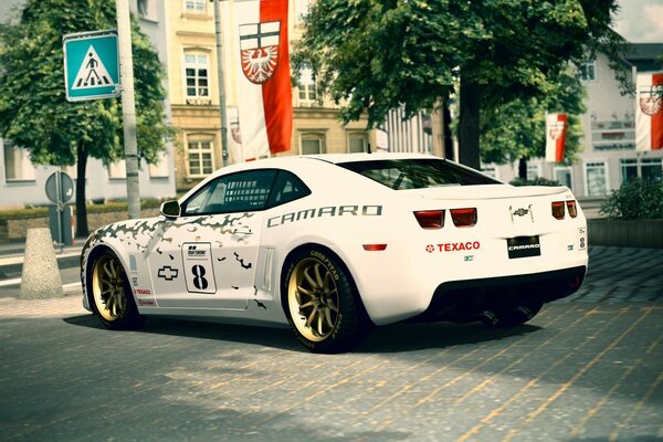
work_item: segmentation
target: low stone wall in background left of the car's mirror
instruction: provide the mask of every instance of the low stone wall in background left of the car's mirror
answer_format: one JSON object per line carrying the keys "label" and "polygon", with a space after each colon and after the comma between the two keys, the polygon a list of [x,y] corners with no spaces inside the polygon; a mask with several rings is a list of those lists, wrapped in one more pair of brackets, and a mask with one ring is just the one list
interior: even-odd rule
{"label": "low stone wall in background left of the car's mirror", "polygon": [[[159,209],[141,210],[141,217],[145,218],[156,217],[157,214],[159,214]],[[128,213],[126,210],[114,212],[87,212],[87,227],[90,231],[93,232],[101,227],[126,219],[128,219]],[[48,215],[0,220],[0,244],[25,241],[28,229],[48,227]]]}

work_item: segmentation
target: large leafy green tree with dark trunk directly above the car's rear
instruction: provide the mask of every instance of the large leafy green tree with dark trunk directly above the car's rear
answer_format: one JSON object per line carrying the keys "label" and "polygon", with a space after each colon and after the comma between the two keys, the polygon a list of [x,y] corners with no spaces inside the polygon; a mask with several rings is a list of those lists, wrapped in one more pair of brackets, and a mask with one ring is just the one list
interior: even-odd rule
{"label": "large leafy green tree with dark trunk directly above the car's rear", "polygon": [[480,108],[545,96],[549,77],[597,50],[618,66],[615,10],[617,0],[317,0],[293,59],[344,104],[345,122],[367,112],[376,126],[389,109],[411,116],[457,93],[460,160],[478,167]]}

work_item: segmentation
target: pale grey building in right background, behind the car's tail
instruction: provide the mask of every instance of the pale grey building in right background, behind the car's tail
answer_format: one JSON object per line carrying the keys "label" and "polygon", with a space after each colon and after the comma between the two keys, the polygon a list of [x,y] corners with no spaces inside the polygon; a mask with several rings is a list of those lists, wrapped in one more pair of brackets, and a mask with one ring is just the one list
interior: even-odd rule
{"label": "pale grey building in right background, behind the car's tail", "polygon": [[[628,81],[638,74],[663,72],[663,44],[633,43],[622,63]],[[573,165],[557,165],[543,159],[528,161],[528,178],[555,179],[585,198],[603,198],[633,178],[663,180],[663,150],[635,150],[634,96],[621,93],[608,57],[599,54],[579,66],[587,90],[587,113],[582,115],[582,151]],[[517,177],[517,165],[486,165],[486,170],[509,181]]]}

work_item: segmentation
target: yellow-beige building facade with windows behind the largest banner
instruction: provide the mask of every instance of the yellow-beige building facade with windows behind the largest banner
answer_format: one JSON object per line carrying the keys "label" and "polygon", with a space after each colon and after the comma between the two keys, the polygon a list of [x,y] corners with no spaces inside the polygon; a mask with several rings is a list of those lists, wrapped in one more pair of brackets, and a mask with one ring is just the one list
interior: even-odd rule
{"label": "yellow-beige building facade with windows behind the largest banner", "polygon": [[[302,35],[302,18],[307,9],[308,0],[288,3],[291,50]],[[213,2],[168,1],[167,15],[168,78],[172,124],[178,137],[175,176],[181,193],[223,164]],[[235,23],[232,2],[221,2],[221,21],[229,155],[231,162],[239,162],[244,158],[233,139],[241,97],[233,75],[239,53],[234,53],[236,30],[232,24]],[[297,74],[298,86],[293,87],[292,149],[280,156],[367,151],[375,146],[375,131],[366,129],[366,119],[341,124],[338,107],[317,94],[311,72]]]}

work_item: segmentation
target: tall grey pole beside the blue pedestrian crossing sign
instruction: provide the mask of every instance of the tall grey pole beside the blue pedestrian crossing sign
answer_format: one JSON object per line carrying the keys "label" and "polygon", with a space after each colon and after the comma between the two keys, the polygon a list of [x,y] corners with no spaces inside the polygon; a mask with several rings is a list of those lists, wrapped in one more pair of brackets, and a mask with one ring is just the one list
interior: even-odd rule
{"label": "tall grey pole beside the blue pedestrian crossing sign", "polygon": [[125,161],[127,168],[127,204],[129,219],[140,218],[138,185],[138,144],[136,140],[136,103],[134,97],[134,57],[129,0],[116,0],[117,38],[119,40],[119,72],[122,84],[122,119],[124,126]]}

